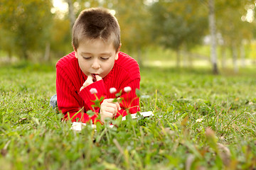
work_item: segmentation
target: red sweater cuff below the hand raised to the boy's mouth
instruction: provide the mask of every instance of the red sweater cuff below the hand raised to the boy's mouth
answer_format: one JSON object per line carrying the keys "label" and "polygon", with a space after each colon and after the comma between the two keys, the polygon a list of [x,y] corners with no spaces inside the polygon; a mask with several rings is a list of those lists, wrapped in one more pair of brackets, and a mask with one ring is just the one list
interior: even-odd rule
{"label": "red sweater cuff below the hand raised to the boy's mouth", "polygon": [[92,106],[95,105],[95,101],[100,100],[101,97],[106,98],[106,95],[107,90],[103,80],[95,81],[79,92],[79,96],[92,111],[94,110]]}

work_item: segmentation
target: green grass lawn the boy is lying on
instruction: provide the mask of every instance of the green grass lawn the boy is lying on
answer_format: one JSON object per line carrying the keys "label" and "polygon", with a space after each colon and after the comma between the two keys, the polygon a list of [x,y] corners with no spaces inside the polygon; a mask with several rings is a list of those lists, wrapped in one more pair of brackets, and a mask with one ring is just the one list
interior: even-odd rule
{"label": "green grass lawn the boy is lying on", "polygon": [[55,67],[0,67],[1,169],[254,169],[256,71],[141,70],[152,118],[70,130],[49,107]]}

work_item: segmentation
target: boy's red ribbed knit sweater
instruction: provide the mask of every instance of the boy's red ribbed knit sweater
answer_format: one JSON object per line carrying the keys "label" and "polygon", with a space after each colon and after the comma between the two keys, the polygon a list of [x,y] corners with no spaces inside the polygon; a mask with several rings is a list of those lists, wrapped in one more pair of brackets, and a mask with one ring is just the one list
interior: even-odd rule
{"label": "boy's red ribbed knit sweater", "polygon": [[[114,62],[114,67],[106,77],[86,86],[82,91],[80,91],[80,88],[87,76],[80,69],[75,52],[62,57],[57,62],[56,73],[58,108],[62,111],[66,120],[73,118],[72,121],[81,121],[82,123],[89,120],[92,120],[93,123],[98,121],[96,118],[100,108],[92,108],[92,105],[95,104],[92,101],[95,101],[96,96],[97,98],[101,96],[115,98],[115,94],[110,94],[110,88],[112,87],[116,88],[117,92],[122,90],[121,98],[123,98],[122,103],[120,103],[122,109],[118,111],[115,118],[119,115],[127,115],[127,111],[129,113],[139,111],[139,98],[135,94],[136,89],[139,89],[139,65],[132,57],[123,52],[119,52],[118,60]],[[132,91],[125,93],[124,87],[126,86],[130,86]],[[92,88],[97,89],[97,94],[90,93]],[[86,112],[89,110],[95,111],[95,115],[87,115]]]}

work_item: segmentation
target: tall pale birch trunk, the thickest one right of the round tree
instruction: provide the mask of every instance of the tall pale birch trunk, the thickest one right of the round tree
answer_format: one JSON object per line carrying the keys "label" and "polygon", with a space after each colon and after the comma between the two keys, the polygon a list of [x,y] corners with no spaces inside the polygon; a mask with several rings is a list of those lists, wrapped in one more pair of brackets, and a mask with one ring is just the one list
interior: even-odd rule
{"label": "tall pale birch trunk, the thickest one right of the round tree", "polygon": [[217,43],[216,43],[216,26],[215,26],[215,11],[214,11],[214,0],[209,0],[209,27],[210,27],[210,58],[213,64],[213,74],[218,74],[217,67]]}

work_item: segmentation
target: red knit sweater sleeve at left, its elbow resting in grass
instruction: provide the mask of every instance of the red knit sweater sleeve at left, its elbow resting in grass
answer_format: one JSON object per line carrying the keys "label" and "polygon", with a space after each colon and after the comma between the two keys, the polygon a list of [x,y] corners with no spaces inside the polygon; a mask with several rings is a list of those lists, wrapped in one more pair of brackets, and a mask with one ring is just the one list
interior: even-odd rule
{"label": "red knit sweater sleeve at left, its elbow resting in grass", "polygon": [[[97,120],[97,113],[91,117],[85,113],[84,103],[81,103],[80,96],[75,90],[73,83],[61,67],[56,68],[56,91],[58,108],[64,114],[63,120],[80,121],[87,123]],[[80,111],[78,113],[78,111]]]}

